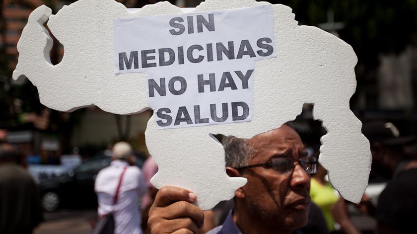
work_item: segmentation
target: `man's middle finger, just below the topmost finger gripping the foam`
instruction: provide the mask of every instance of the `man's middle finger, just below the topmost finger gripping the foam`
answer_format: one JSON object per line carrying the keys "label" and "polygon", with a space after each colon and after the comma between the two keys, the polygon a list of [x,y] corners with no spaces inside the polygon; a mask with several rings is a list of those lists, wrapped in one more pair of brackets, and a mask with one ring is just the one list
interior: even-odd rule
{"label": "man's middle finger, just below the topmost finger gripping the foam", "polygon": [[204,212],[199,207],[186,201],[179,201],[171,204],[169,208],[164,209],[164,213],[161,214],[162,219],[174,220],[181,217],[189,217],[195,222],[197,227],[203,227]]}

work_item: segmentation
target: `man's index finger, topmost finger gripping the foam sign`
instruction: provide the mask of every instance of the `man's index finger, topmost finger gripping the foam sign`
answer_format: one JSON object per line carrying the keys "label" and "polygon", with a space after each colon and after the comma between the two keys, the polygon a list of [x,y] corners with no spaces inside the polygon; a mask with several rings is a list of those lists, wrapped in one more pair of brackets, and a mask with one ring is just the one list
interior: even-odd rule
{"label": "man's index finger, topmost finger gripping the foam sign", "polygon": [[164,186],[159,189],[152,206],[165,207],[177,201],[188,201],[192,203],[195,200],[196,194],[187,189]]}

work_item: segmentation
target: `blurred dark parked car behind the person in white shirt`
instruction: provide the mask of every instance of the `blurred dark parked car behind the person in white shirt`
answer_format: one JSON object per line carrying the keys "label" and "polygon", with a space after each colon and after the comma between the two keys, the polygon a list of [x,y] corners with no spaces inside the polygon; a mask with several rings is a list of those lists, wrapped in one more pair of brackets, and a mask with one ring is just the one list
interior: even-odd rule
{"label": "blurred dark parked car behind the person in white shirt", "polygon": [[[141,168],[144,156],[137,155],[136,159],[136,165]],[[94,180],[98,171],[110,165],[110,162],[109,154],[101,154],[86,160],[68,173],[41,182],[42,207],[46,211],[55,211],[59,207],[96,208]]]}

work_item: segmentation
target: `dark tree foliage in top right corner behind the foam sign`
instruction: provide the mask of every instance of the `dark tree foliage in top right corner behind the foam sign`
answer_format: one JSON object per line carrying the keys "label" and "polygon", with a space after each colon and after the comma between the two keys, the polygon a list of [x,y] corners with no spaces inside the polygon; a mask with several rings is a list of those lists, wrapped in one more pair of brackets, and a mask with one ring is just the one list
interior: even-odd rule
{"label": "dark tree foliage in top right corner behind the foam sign", "polygon": [[[272,2],[272,1],[271,1]],[[341,39],[350,44],[360,63],[376,67],[381,53],[399,53],[417,32],[417,0],[280,0],[290,6],[300,24],[344,22]]]}

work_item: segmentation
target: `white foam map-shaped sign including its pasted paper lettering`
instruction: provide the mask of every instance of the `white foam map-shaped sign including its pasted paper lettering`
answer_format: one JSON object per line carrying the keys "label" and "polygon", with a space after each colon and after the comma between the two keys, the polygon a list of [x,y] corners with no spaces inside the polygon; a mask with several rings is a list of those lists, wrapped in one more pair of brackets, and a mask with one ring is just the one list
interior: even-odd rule
{"label": "white foam map-shaped sign including its pasted paper lettering", "polygon": [[[371,154],[349,109],[356,56],[291,11],[255,0],[206,0],[186,14],[167,1],[132,12],[114,0],[78,0],[55,15],[43,5],[23,29],[13,78],[27,77],[42,104],[59,111],[154,109],[145,132],[159,166],[152,184],[189,189],[205,210],[247,181],[227,176],[211,134],[251,138],[313,103],[328,131],[319,162],[341,195],[359,202]],[[46,22],[65,48],[57,65]]]}

